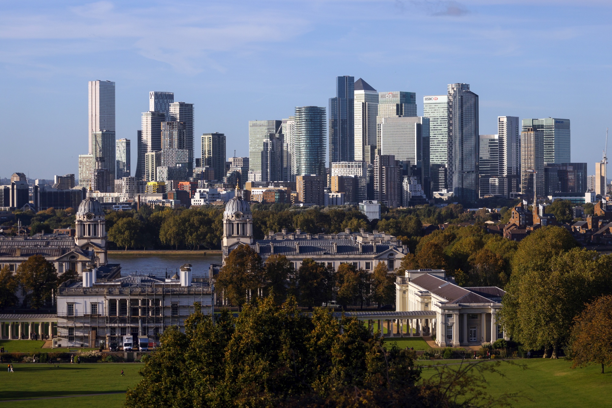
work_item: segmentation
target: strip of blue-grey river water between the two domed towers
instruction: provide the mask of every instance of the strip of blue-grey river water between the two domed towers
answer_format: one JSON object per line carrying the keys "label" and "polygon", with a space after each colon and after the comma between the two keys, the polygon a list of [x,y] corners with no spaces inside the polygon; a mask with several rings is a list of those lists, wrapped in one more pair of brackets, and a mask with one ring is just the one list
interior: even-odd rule
{"label": "strip of blue-grey river water between the two domed towers", "polygon": [[178,273],[182,264],[192,264],[192,276],[194,278],[207,278],[208,267],[211,264],[220,264],[221,254],[160,254],[160,255],[135,255],[135,254],[109,254],[108,263],[121,264],[121,276],[132,274],[155,275],[163,278],[168,272],[168,277]]}

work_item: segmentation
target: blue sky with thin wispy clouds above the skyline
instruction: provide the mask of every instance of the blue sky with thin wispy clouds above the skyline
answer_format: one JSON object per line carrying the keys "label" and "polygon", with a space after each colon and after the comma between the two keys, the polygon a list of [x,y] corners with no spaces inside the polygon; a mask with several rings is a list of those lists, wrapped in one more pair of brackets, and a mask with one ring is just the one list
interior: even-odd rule
{"label": "blue sky with thin wispy clouds above the skyline", "polygon": [[502,115],[570,119],[572,161],[594,172],[612,127],[610,21],[595,0],[0,0],[0,177],[77,173],[90,80],[116,82],[133,172],[149,91],[194,103],[196,135],[248,155],[249,120],[327,106],[337,75],[416,92],[419,114],[423,95],[469,83],[481,134]]}

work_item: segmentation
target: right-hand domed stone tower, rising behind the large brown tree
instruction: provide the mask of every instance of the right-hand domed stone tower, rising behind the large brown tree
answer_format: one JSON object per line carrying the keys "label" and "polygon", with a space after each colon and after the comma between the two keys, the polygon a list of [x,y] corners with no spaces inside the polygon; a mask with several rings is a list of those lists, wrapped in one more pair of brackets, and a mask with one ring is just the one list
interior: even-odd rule
{"label": "right-hand domed stone tower, rising behind the large brown tree", "polygon": [[228,201],[223,212],[223,259],[241,243],[253,244],[253,214],[236,186],[236,195]]}

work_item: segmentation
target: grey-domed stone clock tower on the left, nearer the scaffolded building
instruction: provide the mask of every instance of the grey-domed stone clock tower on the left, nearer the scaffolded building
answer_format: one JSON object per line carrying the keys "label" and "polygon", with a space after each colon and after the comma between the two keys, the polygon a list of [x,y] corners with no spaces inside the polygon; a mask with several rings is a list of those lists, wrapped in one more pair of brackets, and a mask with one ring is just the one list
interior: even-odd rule
{"label": "grey-domed stone clock tower on the left, nearer the scaffolded building", "polygon": [[[92,243],[106,250],[106,221],[100,202],[88,197],[81,201],[76,212],[75,242],[79,247]],[[103,262],[106,263],[106,262]]]}

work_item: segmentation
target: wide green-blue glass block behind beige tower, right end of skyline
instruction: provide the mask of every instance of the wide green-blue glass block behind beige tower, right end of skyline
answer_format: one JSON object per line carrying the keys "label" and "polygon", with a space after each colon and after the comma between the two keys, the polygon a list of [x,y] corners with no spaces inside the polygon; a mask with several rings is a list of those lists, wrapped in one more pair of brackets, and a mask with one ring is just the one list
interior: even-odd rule
{"label": "wide green-blue glass block behind beige tower, right end of skyline", "polygon": [[570,120],[547,117],[523,119],[523,130],[541,130],[544,137],[544,163],[570,163]]}

